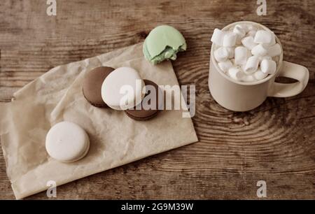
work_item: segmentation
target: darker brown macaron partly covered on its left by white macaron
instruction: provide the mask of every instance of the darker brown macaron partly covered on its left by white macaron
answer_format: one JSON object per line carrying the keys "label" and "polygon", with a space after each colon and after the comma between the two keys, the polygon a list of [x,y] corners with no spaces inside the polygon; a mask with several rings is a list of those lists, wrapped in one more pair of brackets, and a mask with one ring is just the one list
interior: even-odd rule
{"label": "darker brown macaron partly covered on its left by white macaron", "polygon": [[[159,112],[159,106],[162,101],[162,90],[160,87],[151,80],[144,80],[144,83],[146,84],[146,95],[141,104],[132,109],[125,110],[126,115],[134,120],[149,120],[155,117]],[[152,93],[151,90],[153,88],[155,89],[155,97],[148,97]]]}

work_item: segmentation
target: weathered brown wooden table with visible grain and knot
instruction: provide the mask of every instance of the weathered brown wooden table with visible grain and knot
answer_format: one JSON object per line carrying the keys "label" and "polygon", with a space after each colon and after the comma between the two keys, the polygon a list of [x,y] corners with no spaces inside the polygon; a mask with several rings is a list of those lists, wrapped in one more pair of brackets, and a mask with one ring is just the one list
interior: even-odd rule
{"label": "weathered brown wooden table with visible grain and knot", "polygon": [[[57,199],[315,199],[314,1],[267,1],[267,15],[250,1],[57,0],[0,1],[0,101],[54,66],[144,41],[158,24],[186,37],[173,63],[181,85],[196,85],[193,117],[199,143],[142,159],[57,188]],[[208,87],[210,36],[238,20],[265,24],[284,57],[309,69],[301,94],[268,98],[246,113],[216,104]],[[14,199],[0,153],[0,199]],[[47,199],[41,192],[29,199]]]}

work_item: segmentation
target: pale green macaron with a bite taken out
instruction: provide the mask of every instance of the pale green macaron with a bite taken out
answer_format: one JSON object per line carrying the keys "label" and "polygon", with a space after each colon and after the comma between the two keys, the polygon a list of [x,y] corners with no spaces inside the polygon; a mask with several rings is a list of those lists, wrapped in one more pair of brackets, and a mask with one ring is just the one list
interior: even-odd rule
{"label": "pale green macaron with a bite taken out", "polygon": [[176,54],[187,49],[181,32],[169,25],[155,27],[144,41],[144,57],[152,64],[165,59],[176,59]]}

